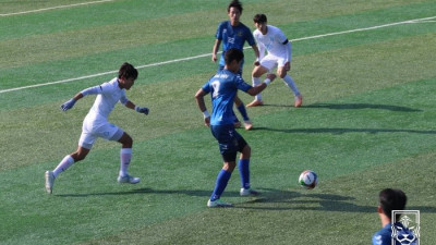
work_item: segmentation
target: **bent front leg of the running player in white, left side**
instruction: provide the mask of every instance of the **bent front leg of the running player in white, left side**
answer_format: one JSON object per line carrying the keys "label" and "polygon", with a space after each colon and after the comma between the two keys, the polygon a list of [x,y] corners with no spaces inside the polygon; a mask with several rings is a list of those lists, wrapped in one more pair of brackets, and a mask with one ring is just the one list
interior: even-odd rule
{"label": "bent front leg of the running player in white, left side", "polygon": [[[121,135],[121,137],[119,135]],[[133,147],[132,137],[128,133],[119,128],[117,134],[111,139],[117,140],[122,145],[120,150],[120,173],[118,175],[118,182],[130,183],[130,184],[140,183],[141,181],[140,177],[134,177],[129,174],[129,166],[132,159],[132,147]]]}

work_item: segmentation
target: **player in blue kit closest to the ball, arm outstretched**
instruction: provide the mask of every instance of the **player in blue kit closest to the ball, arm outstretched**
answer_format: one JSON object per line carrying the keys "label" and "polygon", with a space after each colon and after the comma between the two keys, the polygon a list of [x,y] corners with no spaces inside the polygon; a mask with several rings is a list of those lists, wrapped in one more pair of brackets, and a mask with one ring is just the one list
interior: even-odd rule
{"label": "player in blue kit closest to the ball, arm outstretched", "polygon": [[[255,96],[266,88],[276,78],[276,75],[268,74],[265,82],[255,87],[246,84],[238,73],[243,62],[244,53],[240,49],[229,49],[225,54],[226,65],[218,71],[202,88],[195,94],[199,110],[203,112],[204,121],[210,126],[211,134],[218,140],[220,154],[223,159],[223,167],[218,173],[214,192],[207,201],[207,207],[231,207],[231,204],[223,203],[219,198],[223,193],[227,183],[237,166],[237,154],[241,152],[239,171],[241,175],[241,196],[257,195],[257,192],[250,186],[250,157],[251,148],[245,139],[234,130],[233,102],[238,90]],[[207,111],[204,96],[210,94],[213,111]]]}

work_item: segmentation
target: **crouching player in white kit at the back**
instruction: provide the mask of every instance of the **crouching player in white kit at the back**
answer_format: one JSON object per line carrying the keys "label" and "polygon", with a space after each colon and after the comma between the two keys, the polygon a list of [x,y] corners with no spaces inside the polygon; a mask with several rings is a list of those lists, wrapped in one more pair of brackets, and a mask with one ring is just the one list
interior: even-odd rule
{"label": "crouching player in white kit at the back", "polygon": [[[271,72],[277,66],[277,75],[283,79],[294,94],[294,107],[301,107],[303,98],[290,75],[287,74],[291,70],[292,46],[286,35],[277,27],[267,25],[265,14],[256,14],[253,19],[256,29],[253,32],[254,39],[259,49],[261,64],[255,66],[252,73],[253,85],[261,83],[261,76]],[[265,50],[268,51],[265,56]],[[265,57],[264,57],[265,56]],[[247,107],[256,107],[264,105],[262,95],[258,94],[254,101]]]}

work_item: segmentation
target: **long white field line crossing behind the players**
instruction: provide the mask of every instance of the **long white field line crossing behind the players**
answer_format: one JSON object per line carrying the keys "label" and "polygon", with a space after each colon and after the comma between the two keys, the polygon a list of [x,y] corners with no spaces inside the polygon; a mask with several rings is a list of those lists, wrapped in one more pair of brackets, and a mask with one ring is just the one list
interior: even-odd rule
{"label": "long white field line crossing behind the players", "polygon": [[[291,41],[302,41],[302,40],[316,39],[316,38],[323,38],[323,37],[329,37],[329,36],[336,36],[336,35],[343,35],[343,34],[349,34],[349,33],[365,32],[365,30],[385,28],[385,27],[390,27],[390,26],[396,26],[396,25],[415,24],[415,23],[420,23],[420,22],[424,22],[425,23],[425,22],[429,22],[431,20],[434,20],[434,19],[436,19],[436,16],[424,17],[424,19],[415,19],[415,20],[409,20],[409,21],[403,21],[403,22],[396,22],[396,23],[390,23],[390,24],[385,24],[385,25],[371,26],[371,27],[366,27],[366,28],[356,28],[356,29],[350,29],[350,30],[343,30],[343,32],[337,32],[337,33],[329,33],[329,34],[315,35],[315,36],[310,36],[310,37],[295,38],[295,39],[292,39]],[[247,49],[247,48],[251,48],[251,47],[245,47],[244,49]],[[175,63],[175,62],[181,62],[181,61],[195,60],[195,59],[198,59],[198,58],[204,58],[204,57],[209,57],[209,56],[211,56],[211,54],[210,53],[203,53],[203,54],[198,54],[198,56],[195,56],[195,57],[186,57],[186,58],[181,58],[181,59],[175,59],[175,60],[169,60],[169,61],[162,61],[162,62],[157,62],[157,63],[152,63],[152,64],[138,65],[138,66],[136,66],[136,69],[145,69],[145,68],[158,66],[158,65],[170,64],[170,63]],[[109,71],[109,72],[102,72],[102,73],[86,75],[86,76],[80,76],[80,77],[75,77],[75,78],[68,78],[68,79],[61,79],[61,81],[49,82],[49,83],[44,83],[44,84],[35,84],[35,85],[29,85],[29,86],[22,86],[22,87],[2,89],[2,90],[0,90],[0,94],[9,93],[9,91],[23,90],[23,89],[33,88],[33,87],[48,86],[48,85],[53,85],[53,84],[70,83],[70,82],[74,82],[74,81],[93,78],[93,77],[108,75],[108,74],[116,74],[117,72],[118,71]]]}

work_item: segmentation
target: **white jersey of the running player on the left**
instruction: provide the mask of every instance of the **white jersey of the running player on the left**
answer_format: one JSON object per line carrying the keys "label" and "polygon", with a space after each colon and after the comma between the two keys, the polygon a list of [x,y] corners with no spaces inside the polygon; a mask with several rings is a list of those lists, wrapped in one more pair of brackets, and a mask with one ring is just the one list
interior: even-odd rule
{"label": "white jersey of the running player on the left", "polygon": [[125,89],[120,88],[116,77],[99,86],[97,98],[87,117],[107,120],[118,101],[125,103],[129,100],[125,97]]}

